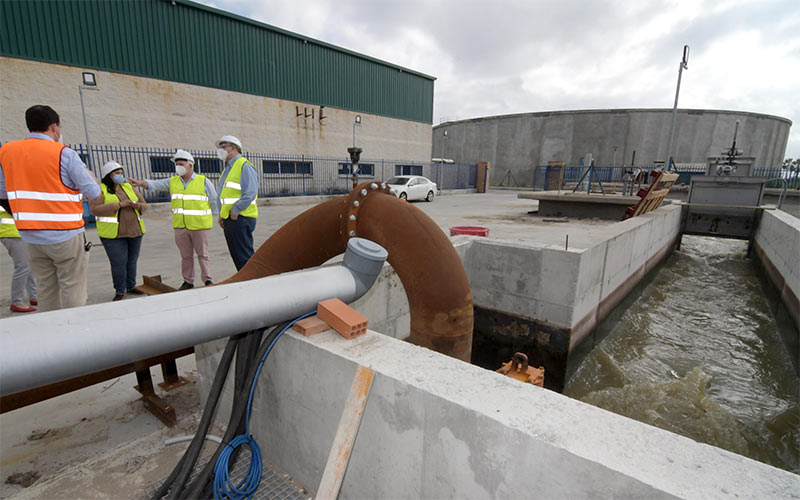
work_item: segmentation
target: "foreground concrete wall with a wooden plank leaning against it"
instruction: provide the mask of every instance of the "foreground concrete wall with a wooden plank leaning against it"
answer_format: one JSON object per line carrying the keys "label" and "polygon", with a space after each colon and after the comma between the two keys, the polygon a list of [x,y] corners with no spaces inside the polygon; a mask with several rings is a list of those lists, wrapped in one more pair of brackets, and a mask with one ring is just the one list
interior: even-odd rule
{"label": "foreground concrete wall with a wooden plank leaning against it", "polygon": [[265,458],[316,490],[357,365],[375,370],[339,498],[787,498],[797,476],[373,331],[285,335]]}

